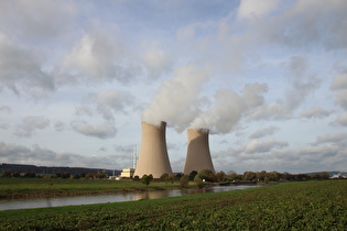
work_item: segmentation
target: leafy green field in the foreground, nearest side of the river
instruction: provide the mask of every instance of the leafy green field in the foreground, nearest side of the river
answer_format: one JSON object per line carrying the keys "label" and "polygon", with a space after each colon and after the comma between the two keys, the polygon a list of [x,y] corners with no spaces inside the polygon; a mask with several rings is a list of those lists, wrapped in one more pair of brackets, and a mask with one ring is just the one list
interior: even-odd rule
{"label": "leafy green field in the foreground, nearest side of the river", "polygon": [[347,230],[347,180],[0,211],[0,230]]}

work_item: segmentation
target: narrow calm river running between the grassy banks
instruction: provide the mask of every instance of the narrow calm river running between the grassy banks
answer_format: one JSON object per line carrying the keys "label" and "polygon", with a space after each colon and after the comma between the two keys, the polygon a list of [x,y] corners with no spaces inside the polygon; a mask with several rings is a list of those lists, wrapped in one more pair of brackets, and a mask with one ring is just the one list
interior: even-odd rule
{"label": "narrow calm river running between the grassy banks", "polygon": [[177,197],[177,196],[194,195],[194,194],[241,190],[241,189],[256,188],[256,187],[261,187],[261,185],[236,185],[236,186],[231,185],[231,186],[213,186],[213,187],[206,187],[206,188],[183,188],[183,189],[177,188],[177,189],[171,189],[171,190],[116,193],[116,194],[107,194],[107,195],[104,194],[104,195],[76,196],[76,197],[9,199],[9,200],[0,200],[0,210],[122,202],[122,201],[155,199],[155,198],[164,198],[164,197]]}

